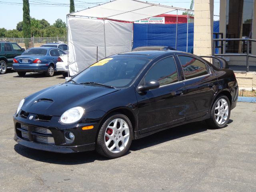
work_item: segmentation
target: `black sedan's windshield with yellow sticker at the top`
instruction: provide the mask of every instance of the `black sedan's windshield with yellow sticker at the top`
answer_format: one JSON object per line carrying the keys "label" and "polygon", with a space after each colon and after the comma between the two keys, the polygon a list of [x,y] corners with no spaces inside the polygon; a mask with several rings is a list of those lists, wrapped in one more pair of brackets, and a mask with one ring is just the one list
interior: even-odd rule
{"label": "black sedan's windshield with yellow sticker at the top", "polygon": [[148,62],[141,58],[106,58],[91,65],[72,80],[77,84],[95,82],[116,88],[127,87]]}

